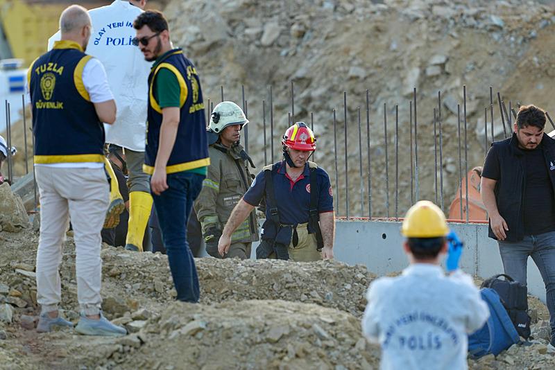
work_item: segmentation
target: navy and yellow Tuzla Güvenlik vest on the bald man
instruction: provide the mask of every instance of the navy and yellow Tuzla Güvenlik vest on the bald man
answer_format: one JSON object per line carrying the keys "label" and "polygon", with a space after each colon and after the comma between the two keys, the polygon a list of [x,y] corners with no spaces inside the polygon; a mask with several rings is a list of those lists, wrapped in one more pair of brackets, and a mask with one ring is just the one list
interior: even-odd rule
{"label": "navy and yellow Tuzla G\u00fcvenlik vest on the bald man", "polygon": [[104,127],[83,85],[91,58],[63,40],[29,67],[36,164],[103,161]]}

